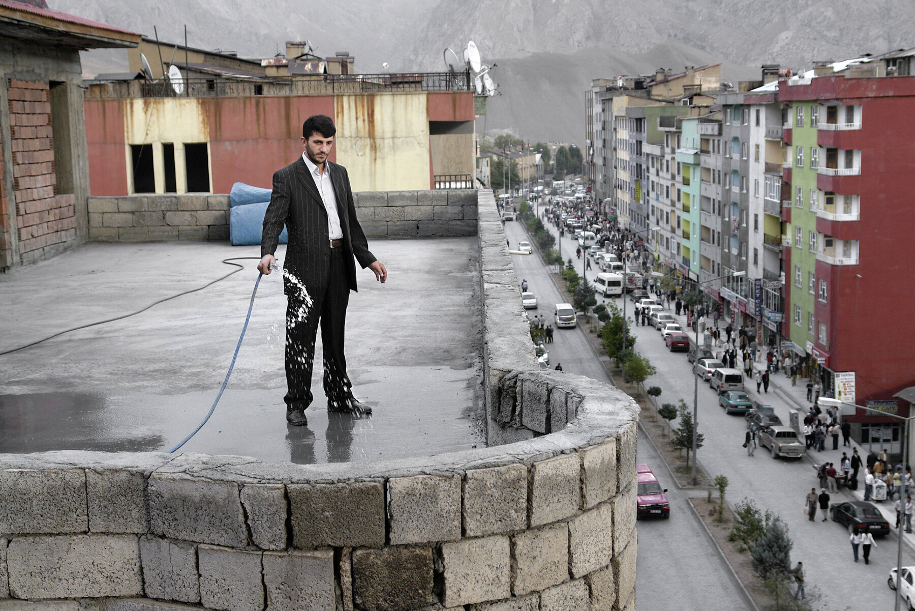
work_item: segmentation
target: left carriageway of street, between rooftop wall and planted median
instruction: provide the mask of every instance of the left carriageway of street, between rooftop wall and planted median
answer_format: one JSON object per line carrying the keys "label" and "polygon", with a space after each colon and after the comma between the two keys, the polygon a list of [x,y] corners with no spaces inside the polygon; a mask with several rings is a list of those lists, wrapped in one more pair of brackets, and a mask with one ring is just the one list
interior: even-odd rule
{"label": "left carriageway of street, between rooftop wall and planted median", "polygon": [[[521,224],[511,221],[505,224],[505,235],[511,248],[515,248],[520,240],[527,239]],[[566,252],[565,244],[563,252]],[[575,249],[570,252],[574,257]],[[551,320],[554,304],[563,298],[540,256],[534,253],[513,255],[511,258],[519,281],[526,279],[528,289],[537,296],[539,307],[529,313],[543,314],[544,319]],[[606,370],[583,334],[589,327],[585,324],[574,329],[556,330],[554,343],[547,344],[550,366],[562,363],[564,371],[609,382]],[[727,565],[688,507],[686,495],[673,483],[651,442],[642,439],[641,435],[638,460],[651,464],[662,486],[668,488],[671,518],[639,522],[637,606],[643,609],[673,608],[672,601],[676,601],[676,608],[682,609],[748,609]]]}

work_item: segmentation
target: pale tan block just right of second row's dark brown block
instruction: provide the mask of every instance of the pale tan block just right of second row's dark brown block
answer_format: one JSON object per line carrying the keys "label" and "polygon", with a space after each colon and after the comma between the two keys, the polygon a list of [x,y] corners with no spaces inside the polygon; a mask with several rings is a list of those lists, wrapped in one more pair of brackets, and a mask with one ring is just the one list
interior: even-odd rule
{"label": "pale tan block just right of second row's dark brown block", "polygon": [[497,535],[442,545],[445,606],[484,603],[511,595],[509,538]]}

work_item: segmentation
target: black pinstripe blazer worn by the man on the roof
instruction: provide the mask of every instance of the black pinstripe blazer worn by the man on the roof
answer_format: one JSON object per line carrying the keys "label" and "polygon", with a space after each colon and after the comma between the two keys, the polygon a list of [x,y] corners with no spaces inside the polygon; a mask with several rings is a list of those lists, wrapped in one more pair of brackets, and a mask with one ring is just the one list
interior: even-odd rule
{"label": "black pinstripe blazer worn by the man on the roof", "polygon": [[[330,161],[327,168],[325,171],[330,172],[330,181],[337,196],[337,213],[343,230],[346,281],[350,290],[357,290],[353,256],[363,268],[369,267],[375,257],[369,251],[369,244],[356,218],[356,205],[346,168]],[[261,256],[274,254],[284,224],[288,230],[289,245],[286,246],[283,267],[299,278],[306,288],[325,286],[330,262],[328,212],[301,157],[274,172],[274,191],[270,194],[270,204],[264,214]],[[288,278],[284,278],[284,289],[287,295],[290,294]]]}

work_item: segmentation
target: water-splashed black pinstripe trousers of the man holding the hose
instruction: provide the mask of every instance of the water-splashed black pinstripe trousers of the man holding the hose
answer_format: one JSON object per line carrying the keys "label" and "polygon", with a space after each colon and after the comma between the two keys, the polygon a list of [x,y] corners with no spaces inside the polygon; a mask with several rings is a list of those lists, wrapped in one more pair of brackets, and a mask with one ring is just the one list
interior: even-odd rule
{"label": "water-splashed black pinstripe trousers of the man holding the hose", "polygon": [[343,355],[346,309],[350,303],[344,256],[344,248],[330,249],[329,273],[323,286],[307,287],[310,304],[291,292],[287,296],[285,371],[288,392],[284,398],[287,410],[307,409],[314,399],[311,374],[318,324],[321,327],[324,394],[328,398],[328,406],[352,396],[352,384],[346,373],[346,356]]}

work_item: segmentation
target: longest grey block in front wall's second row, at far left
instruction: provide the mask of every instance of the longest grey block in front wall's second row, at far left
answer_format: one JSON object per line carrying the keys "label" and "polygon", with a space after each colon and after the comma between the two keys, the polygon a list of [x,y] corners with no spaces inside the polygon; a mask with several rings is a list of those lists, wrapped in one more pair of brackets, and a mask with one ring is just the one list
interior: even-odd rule
{"label": "longest grey block in front wall's second row, at far left", "polygon": [[14,598],[94,598],[143,594],[134,535],[22,537],[6,549]]}

